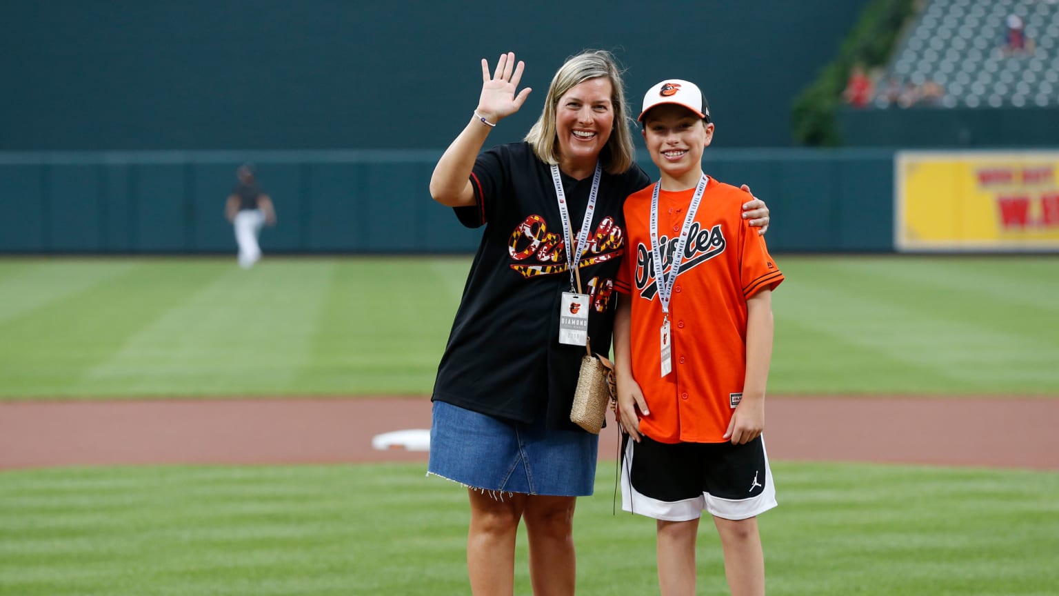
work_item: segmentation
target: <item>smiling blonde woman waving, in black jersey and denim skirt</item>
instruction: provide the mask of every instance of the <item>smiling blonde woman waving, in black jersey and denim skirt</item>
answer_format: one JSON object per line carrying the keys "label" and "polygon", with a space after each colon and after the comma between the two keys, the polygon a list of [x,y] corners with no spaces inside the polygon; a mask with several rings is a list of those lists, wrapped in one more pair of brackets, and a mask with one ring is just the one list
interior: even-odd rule
{"label": "smiling blonde woman waving, in black jersey and denim skirt", "polygon": [[[592,493],[598,439],[570,422],[585,343],[557,340],[557,304],[562,294],[588,293],[588,335],[609,351],[622,205],[648,178],[632,163],[621,74],[606,52],[559,69],[526,142],[479,155],[493,125],[528,95],[518,90],[523,69],[513,53],[492,75],[483,60],[474,118],[431,178],[435,200],[485,232],[438,368],[429,470],[469,487],[475,593],[511,592],[515,536],[525,518],[535,591],[572,594],[574,503]],[[532,242],[517,250],[522,239]],[[572,267],[581,269],[584,288],[575,288]],[[504,498],[490,496],[498,494]]]}

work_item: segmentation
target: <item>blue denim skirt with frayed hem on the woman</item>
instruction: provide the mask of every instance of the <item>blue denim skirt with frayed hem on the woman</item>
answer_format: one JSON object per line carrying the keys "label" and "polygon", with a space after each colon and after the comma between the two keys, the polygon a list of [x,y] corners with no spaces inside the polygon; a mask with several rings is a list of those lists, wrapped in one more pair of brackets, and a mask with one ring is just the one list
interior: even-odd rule
{"label": "blue denim skirt with frayed hem on the woman", "polygon": [[599,437],[537,418],[524,424],[435,401],[427,474],[501,495],[592,494]]}

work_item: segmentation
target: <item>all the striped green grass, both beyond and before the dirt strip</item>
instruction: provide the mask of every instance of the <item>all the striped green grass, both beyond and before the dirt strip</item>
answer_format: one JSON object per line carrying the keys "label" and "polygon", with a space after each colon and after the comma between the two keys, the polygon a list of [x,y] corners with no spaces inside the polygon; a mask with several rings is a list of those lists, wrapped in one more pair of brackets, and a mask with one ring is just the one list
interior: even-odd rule
{"label": "all the striped green grass, both beyond and before the dirt strip", "polygon": [[[777,258],[772,393],[1059,396],[1059,257]],[[426,395],[468,265],[0,259],[0,400]],[[3,471],[0,594],[465,594],[466,494],[424,468]],[[773,471],[770,594],[1056,594],[1059,473]],[[653,523],[613,493],[602,466],[578,502],[578,593],[657,593]],[[725,592],[708,524],[699,569]]]}

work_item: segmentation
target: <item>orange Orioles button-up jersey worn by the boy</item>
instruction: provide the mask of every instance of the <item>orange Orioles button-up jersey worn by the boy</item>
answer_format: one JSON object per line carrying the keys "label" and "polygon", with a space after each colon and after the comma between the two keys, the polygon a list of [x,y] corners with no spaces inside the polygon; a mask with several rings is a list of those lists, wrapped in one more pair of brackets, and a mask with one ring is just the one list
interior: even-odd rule
{"label": "orange Orioles button-up jersey worn by the boy", "polygon": [[[684,246],[669,298],[672,372],[661,375],[663,313],[654,279],[650,212],[653,185],[625,203],[628,252],[614,288],[632,304],[632,375],[650,416],[648,437],[665,442],[723,442],[742,397],[747,299],[784,279],[765,239],[742,218],[746,192],[710,178]],[[659,193],[659,244],[668,274],[695,189]],[[623,297],[623,299],[626,299]]]}

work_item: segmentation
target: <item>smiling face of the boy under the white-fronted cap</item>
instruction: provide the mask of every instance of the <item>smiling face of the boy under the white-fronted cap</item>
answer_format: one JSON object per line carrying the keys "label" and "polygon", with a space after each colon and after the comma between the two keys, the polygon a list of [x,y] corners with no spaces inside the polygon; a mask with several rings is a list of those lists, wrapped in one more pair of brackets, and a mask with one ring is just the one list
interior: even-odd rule
{"label": "smiling face of the boy under the white-fronted cap", "polygon": [[[643,133],[647,153],[662,172],[662,188],[683,190],[698,183],[702,152],[714,138],[712,122],[705,122],[686,107],[662,104],[644,115]],[[671,185],[666,185],[665,178],[676,182],[676,188],[669,188]]]}

